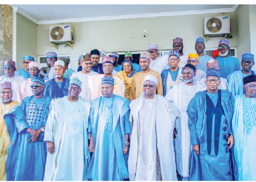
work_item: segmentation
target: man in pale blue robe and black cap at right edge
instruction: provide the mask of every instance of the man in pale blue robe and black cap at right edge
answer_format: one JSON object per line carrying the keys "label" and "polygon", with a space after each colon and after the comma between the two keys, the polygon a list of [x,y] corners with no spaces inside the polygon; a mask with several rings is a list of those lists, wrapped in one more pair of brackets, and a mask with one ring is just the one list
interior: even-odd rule
{"label": "man in pale blue robe and black cap at right edge", "polygon": [[239,181],[256,181],[256,75],[243,78],[245,94],[235,96],[232,120]]}

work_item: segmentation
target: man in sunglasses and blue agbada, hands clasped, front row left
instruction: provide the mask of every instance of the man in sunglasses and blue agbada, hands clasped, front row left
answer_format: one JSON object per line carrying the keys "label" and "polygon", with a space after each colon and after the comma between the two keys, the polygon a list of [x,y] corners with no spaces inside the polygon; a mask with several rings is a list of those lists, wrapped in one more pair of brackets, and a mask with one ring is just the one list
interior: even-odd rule
{"label": "man in sunglasses and blue agbada, hands clasped, front row left", "polygon": [[11,145],[6,162],[7,181],[42,181],[47,156],[43,142],[51,99],[43,95],[44,79],[33,77],[28,96],[4,115]]}

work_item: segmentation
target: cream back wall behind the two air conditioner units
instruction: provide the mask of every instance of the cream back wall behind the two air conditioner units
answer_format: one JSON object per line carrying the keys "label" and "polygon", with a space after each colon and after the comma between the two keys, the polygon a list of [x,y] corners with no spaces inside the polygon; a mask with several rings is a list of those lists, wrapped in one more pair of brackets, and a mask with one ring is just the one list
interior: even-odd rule
{"label": "cream back wall behind the two air conditioner units", "polygon": [[[184,53],[195,53],[195,40],[203,36],[203,17],[230,16],[230,47],[237,47],[236,14],[206,14],[190,16],[172,16],[157,18],[140,18],[125,20],[93,21],[81,23],[65,23],[74,27],[74,49],[59,45],[57,50],[49,42],[49,26],[38,25],[38,55],[54,51],[57,54],[70,54],[71,68],[78,67],[78,57],[93,49],[106,52],[144,51],[149,43],[156,43],[162,50],[172,49],[172,39],[182,37]],[[147,38],[143,39],[143,30],[147,30]],[[133,38],[131,38],[133,37]],[[217,48],[221,37],[209,38],[206,48]]]}

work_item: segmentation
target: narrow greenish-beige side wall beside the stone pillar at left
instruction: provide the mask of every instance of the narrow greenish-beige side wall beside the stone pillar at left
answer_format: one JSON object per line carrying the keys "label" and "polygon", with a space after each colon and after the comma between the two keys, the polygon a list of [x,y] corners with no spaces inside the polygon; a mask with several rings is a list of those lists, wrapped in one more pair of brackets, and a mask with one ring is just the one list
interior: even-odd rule
{"label": "narrow greenish-beige side wall beside the stone pillar at left", "polygon": [[31,55],[37,61],[37,24],[16,13],[16,68],[24,69],[23,56]]}

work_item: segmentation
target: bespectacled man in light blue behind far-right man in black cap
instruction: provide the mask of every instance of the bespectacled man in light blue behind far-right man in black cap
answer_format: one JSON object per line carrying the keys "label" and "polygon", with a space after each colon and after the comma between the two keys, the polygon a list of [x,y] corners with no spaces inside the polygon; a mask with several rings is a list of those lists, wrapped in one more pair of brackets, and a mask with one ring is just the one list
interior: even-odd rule
{"label": "bespectacled man in light blue behind far-right man in black cap", "polygon": [[228,75],[228,91],[236,95],[245,94],[245,88],[243,87],[243,78],[248,75],[255,75],[256,72],[252,71],[254,65],[254,55],[247,52],[242,55],[241,71],[235,71]]}

